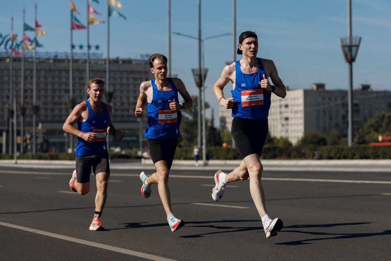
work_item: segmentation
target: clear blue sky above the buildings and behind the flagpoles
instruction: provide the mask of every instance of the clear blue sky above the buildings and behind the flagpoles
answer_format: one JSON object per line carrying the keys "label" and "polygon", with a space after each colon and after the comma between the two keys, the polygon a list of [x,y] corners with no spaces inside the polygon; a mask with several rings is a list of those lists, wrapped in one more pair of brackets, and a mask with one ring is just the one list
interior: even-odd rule
{"label": "clear blue sky above the buildings and behind the flagpoles", "polygon": [[[23,7],[26,23],[33,26],[34,2],[38,3],[38,22],[47,31],[47,35],[39,37],[39,42],[45,45],[40,51],[69,51],[68,0],[7,1],[0,9],[0,33],[9,33],[13,16],[14,33],[22,34]],[[106,20],[107,1],[99,2],[91,5]],[[167,55],[167,1],[120,2],[123,8],[118,11],[127,20],[110,19],[110,57]],[[80,12],[77,18],[86,25],[86,0],[74,0],[74,4]],[[232,33],[232,9],[231,0],[202,0],[201,38]],[[353,87],[368,83],[374,90],[390,90],[387,76],[391,69],[390,13],[389,0],[352,0],[353,36],[362,37],[353,63]],[[347,0],[237,0],[236,20],[235,46],[242,31],[255,31],[259,40],[258,57],[273,60],[280,78],[290,89],[307,89],[316,82],[326,83],[326,89],[348,89],[348,64],[338,42],[339,37],[348,34]],[[198,36],[197,0],[171,0],[171,31]],[[172,73],[178,74],[190,94],[198,94],[191,73],[191,68],[198,67],[197,40],[172,34],[171,41]],[[74,44],[86,44],[86,30],[74,31]],[[99,44],[100,52],[106,57],[106,24],[90,26],[90,44]],[[215,121],[219,105],[212,87],[225,62],[232,59],[233,36],[205,41],[205,67],[209,69],[206,100],[215,108]],[[228,85],[224,89],[226,96],[230,95],[229,89]],[[206,116],[210,117],[210,110]]]}

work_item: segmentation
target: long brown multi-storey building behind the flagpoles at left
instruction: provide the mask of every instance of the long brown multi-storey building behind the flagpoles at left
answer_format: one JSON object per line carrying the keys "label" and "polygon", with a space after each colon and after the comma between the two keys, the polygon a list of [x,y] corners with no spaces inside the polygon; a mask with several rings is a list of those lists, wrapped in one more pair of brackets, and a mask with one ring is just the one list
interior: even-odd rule
{"label": "long brown multi-storey building behind the flagpoles at left", "polygon": [[[11,84],[11,61],[10,57],[0,57],[0,135],[2,135],[2,153],[5,148],[8,151],[8,129],[9,129],[9,107],[12,100],[17,104],[17,133],[20,134],[20,108],[25,107],[23,116],[25,143],[23,144],[27,152],[29,149],[29,137],[32,134],[33,118],[33,76],[34,60],[24,58],[24,81],[22,94],[22,58],[13,57],[12,65],[12,93]],[[70,60],[66,57],[58,58],[37,58],[36,62],[36,105],[39,106],[36,114],[37,146],[46,146],[41,151],[66,151],[69,135],[62,130],[63,123],[69,115],[71,108],[75,104],[87,98],[86,86],[86,59],[73,59],[73,86],[72,93],[74,102],[70,100]],[[106,59],[90,60],[90,76],[92,79],[99,77],[106,79]],[[140,93],[140,83],[151,79],[151,71],[147,60],[134,59],[111,59],[109,72],[109,92],[104,94],[103,101],[113,106],[112,121],[117,129],[126,132],[122,147],[139,147],[139,137],[141,129],[145,128],[146,118],[137,121],[134,116],[138,95]],[[23,100],[22,100],[23,97]],[[146,115],[145,115],[146,116]],[[5,138],[7,137],[7,138]],[[27,138],[27,140],[26,140]],[[75,143],[75,138],[73,139]],[[115,146],[117,141],[111,137],[110,146]],[[20,141],[18,142],[19,151]],[[75,145],[73,146],[75,147]],[[39,149],[37,152],[40,151]]]}

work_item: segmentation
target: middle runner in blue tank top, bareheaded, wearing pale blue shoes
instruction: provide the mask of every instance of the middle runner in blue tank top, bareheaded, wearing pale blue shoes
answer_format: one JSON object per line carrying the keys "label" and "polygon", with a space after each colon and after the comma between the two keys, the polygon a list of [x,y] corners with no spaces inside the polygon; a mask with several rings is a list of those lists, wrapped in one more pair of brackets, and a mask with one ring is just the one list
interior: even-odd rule
{"label": "middle runner in blue tank top, bareheaded, wearing pale blue shoes", "polygon": [[[135,116],[141,117],[145,104],[148,103],[148,125],[144,136],[147,138],[149,154],[156,172],[151,176],[141,172],[141,193],[144,198],[148,198],[151,195],[151,184],[158,184],[167,221],[174,232],[185,223],[177,219],[171,210],[169,172],[178,144],[181,110],[191,108],[193,101],[179,78],[167,78],[167,58],[164,55],[152,54],[149,57],[149,66],[155,79],[141,83]],[[179,103],[178,92],[185,102]]]}

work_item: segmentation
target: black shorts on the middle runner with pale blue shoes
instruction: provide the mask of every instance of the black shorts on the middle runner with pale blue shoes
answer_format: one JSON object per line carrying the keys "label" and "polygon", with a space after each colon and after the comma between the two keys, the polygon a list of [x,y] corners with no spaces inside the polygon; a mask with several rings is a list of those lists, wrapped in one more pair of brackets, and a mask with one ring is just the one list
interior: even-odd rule
{"label": "black shorts on the middle runner with pale blue shoes", "polygon": [[149,155],[151,155],[153,164],[158,161],[165,160],[167,168],[171,169],[172,161],[176,146],[178,145],[178,138],[174,139],[151,139],[147,138]]}

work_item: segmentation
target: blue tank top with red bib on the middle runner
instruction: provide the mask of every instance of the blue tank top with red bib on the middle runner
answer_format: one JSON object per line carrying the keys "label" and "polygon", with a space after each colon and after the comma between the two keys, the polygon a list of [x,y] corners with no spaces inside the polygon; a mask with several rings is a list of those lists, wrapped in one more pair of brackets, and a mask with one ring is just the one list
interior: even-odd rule
{"label": "blue tank top with red bib on the middle runner", "polygon": [[167,78],[172,89],[159,91],[155,80],[151,80],[153,96],[148,103],[148,125],[144,136],[153,139],[173,139],[179,137],[181,111],[171,111],[169,100],[179,102],[178,89],[171,78]]}

